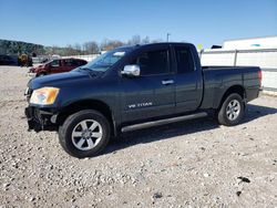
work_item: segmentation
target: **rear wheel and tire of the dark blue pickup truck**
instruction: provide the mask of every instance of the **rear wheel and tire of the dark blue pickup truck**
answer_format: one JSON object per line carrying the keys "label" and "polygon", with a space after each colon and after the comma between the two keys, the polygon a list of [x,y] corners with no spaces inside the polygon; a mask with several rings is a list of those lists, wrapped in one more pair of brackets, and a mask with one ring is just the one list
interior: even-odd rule
{"label": "rear wheel and tire of the dark blue pickup truck", "polygon": [[244,117],[245,105],[239,94],[233,93],[223,102],[218,114],[218,123],[225,126],[237,125]]}

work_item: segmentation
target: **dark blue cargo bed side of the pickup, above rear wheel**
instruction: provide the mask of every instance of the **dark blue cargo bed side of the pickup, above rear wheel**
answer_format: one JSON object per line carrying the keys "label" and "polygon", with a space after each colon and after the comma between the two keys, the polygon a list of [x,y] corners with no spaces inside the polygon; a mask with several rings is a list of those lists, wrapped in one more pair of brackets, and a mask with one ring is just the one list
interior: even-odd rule
{"label": "dark blue cargo bed side of the pickup, above rear wheel", "polygon": [[205,85],[202,108],[217,108],[230,86],[244,86],[246,102],[258,96],[261,77],[257,66],[203,66],[202,71]]}

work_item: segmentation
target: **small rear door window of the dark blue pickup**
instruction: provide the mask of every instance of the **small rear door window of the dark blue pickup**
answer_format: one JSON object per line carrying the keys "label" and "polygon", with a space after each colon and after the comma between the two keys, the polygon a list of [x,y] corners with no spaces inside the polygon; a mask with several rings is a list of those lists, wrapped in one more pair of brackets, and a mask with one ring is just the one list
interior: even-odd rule
{"label": "small rear door window of the dark blue pickup", "polygon": [[189,49],[176,46],[175,54],[178,73],[187,73],[194,71],[194,62]]}

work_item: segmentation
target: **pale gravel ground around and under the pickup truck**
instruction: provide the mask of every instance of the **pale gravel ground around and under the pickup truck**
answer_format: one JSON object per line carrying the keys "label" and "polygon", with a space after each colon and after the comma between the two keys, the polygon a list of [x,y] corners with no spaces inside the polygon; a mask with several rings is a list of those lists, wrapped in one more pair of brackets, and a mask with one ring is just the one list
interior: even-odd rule
{"label": "pale gravel ground around and under the pickup truck", "polygon": [[277,207],[277,98],[244,122],[209,118],[126,134],[94,158],[27,131],[25,67],[0,66],[0,207]]}

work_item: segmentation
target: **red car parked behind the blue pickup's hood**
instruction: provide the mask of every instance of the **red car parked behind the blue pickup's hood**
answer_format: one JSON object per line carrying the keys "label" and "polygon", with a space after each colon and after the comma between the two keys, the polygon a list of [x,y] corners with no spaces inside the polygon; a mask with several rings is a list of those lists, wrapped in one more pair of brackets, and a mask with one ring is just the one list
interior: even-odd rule
{"label": "red car parked behind the blue pickup's hood", "polygon": [[37,67],[31,67],[29,75],[31,76],[43,76],[48,74],[57,74],[62,72],[69,72],[75,67],[86,64],[85,60],[81,59],[57,59],[41,64]]}

